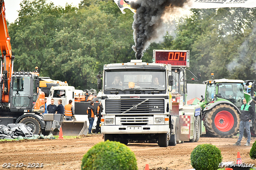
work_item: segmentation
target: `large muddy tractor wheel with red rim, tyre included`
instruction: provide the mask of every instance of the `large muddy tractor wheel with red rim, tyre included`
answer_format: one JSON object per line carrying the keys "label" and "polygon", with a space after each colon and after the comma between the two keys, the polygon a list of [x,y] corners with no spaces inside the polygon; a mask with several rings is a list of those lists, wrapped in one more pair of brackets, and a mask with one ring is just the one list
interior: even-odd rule
{"label": "large muddy tractor wheel with red rim, tyre included", "polygon": [[229,138],[239,130],[238,111],[229,104],[219,104],[206,113],[204,125],[211,136]]}

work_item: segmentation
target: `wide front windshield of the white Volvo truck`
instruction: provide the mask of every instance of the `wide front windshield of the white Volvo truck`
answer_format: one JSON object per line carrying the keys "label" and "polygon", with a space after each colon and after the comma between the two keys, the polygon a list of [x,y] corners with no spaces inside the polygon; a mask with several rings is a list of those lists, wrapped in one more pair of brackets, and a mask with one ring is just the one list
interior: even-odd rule
{"label": "wide front windshield of the white Volvo truck", "polygon": [[165,71],[106,71],[104,75],[104,90],[110,89],[142,89],[165,90]]}

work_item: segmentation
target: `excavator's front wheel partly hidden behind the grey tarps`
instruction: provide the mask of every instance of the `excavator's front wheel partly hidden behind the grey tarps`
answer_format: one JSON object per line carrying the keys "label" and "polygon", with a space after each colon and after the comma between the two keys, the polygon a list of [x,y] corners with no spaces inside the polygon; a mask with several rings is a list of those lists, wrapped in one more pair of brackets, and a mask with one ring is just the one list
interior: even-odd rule
{"label": "excavator's front wheel partly hidden behind the grey tarps", "polygon": [[39,121],[34,117],[24,117],[19,123],[24,123],[27,127],[30,127],[33,134],[41,134],[42,132]]}

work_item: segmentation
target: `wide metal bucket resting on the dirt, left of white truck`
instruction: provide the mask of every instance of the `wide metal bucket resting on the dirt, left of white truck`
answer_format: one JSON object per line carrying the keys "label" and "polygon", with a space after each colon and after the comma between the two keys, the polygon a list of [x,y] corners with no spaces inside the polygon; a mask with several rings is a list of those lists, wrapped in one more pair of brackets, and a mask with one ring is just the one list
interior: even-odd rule
{"label": "wide metal bucket resting on the dirt, left of white truck", "polygon": [[63,136],[79,136],[88,134],[87,121],[63,121],[61,124]]}

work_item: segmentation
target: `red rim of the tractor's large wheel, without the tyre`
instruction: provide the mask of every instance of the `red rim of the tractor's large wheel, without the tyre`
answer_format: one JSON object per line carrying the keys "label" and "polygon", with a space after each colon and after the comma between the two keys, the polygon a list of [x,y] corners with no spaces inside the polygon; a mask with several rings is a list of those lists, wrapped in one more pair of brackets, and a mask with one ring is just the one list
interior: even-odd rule
{"label": "red rim of the tractor's large wheel, without the tyre", "polygon": [[215,116],[214,124],[221,132],[228,132],[234,126],[234,117],[228,111],[220,111]]}

